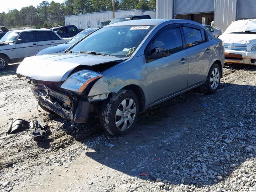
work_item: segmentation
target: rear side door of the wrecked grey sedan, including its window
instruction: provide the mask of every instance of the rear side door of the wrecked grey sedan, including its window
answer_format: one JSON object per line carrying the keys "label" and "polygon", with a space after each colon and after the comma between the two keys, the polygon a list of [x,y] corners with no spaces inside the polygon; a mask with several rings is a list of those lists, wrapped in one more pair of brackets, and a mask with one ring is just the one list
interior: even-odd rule
{"label": "rear side door of the wrecked grey sedan, including its window", "polygon": [[183,31],[188,50],[188,87],[191,87],[205,81],[212,60],[212,48],[203,28],[183,24]]}

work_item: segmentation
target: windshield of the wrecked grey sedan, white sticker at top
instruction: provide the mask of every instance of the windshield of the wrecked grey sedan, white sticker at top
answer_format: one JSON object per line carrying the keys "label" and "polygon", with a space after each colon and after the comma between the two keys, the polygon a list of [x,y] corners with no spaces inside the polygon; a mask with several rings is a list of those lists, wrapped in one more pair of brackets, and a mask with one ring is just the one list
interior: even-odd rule
{"label": "windshield of the wrecked grey sedan, white sticker at top", "polygon": [[103,27],[76,44],[71,51],[130,56],[151,29],[152,26]]}

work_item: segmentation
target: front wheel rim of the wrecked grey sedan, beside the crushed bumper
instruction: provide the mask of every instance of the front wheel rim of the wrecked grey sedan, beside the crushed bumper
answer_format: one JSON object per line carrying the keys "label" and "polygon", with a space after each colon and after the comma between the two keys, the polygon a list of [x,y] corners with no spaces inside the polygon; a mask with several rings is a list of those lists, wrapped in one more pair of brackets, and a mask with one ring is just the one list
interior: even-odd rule
{"label": "front wheel rim of the wrecked grey sedan, beside the crushed bumper", "polygon": [[132,98],[122,100],[116,110],[116,128],[120,131],[129,129],[134,122],[136,113],[136,103]]}

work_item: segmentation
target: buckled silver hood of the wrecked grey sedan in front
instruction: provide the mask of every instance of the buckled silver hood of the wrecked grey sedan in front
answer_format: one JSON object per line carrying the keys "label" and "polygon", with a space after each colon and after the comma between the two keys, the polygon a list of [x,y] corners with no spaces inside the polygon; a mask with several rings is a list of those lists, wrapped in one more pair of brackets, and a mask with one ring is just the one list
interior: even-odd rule
{"label": "buckled silver hood of the wrecked grey sedan in front", "polygon": [[17,68],[17,74],[35,80],[60,82],[67,79],[79,65],[93,66],[122,60],[112,56],[91,54],[50,54],[25,58]]}

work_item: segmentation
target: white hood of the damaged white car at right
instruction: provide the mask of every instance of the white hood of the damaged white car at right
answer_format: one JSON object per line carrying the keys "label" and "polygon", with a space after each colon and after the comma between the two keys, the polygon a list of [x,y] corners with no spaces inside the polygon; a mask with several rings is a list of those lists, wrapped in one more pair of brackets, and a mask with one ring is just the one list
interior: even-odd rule
{"label": "white hood of the damaged white car at right", "polygon": [[224,43],[241,43],[246,44],[247,48],[256,44],[256,34],[236,34],[236,33],[224,33],[219,36]]}

